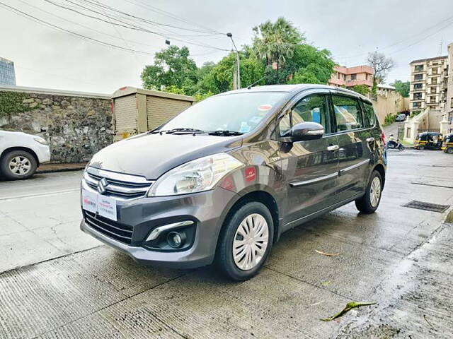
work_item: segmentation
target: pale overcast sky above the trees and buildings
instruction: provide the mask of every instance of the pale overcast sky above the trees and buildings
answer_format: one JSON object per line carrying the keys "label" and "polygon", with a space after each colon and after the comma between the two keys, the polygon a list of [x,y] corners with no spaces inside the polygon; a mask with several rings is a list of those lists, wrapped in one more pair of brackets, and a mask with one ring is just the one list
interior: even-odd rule
{"label": "pale overcast sky above the trees and buildings", "polygon": [[[134,25],[148,32],[74,12],[108,13],[88,11],[93,4],[147,20],[134,19]],[[0,0],[0,57],[15,62],[17,85],[110,94],[126,85],[141,87],[142,69],[167,47],[166,39],[186,45],[200,66],[229,53],[226,32],[236,45],[250,44],[253,26],[280,16],[304,32],[307,42],[330,50],[340,65],[366,64],[375,50],[391,57],[396,66],[387,83],[408,80],[412,60],[446,55],[453,42],[452,0]]]}

